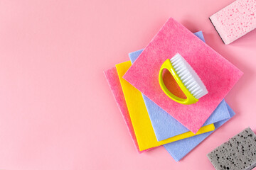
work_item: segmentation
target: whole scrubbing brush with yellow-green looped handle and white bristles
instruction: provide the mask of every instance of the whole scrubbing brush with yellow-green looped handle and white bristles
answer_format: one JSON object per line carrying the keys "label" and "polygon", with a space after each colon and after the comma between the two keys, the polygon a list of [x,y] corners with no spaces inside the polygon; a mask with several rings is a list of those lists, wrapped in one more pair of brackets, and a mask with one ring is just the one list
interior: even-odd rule
{"label": "whole scrubbing brush with yellow-green looped handle and white bristles", "polygon": [[[186,98],[180,98],[172,94],[164,84],[163,72],[168,69],[180,86]],[[174,55],[170,60],[167,59],[160,68],[159,84],[164,93],[169,98],[181,104],[193,104],[198,102],[198,99],[208,94],[206,86],[201,81],[200,77],[196,74],[193,68],[183,59],[180,54]]]}

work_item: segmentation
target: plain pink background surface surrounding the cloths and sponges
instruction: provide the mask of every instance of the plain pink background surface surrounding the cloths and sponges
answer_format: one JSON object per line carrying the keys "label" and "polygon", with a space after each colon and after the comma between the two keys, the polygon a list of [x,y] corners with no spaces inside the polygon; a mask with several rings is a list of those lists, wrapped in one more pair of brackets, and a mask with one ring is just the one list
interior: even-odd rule
{"label": "plain pink background surface surrounding the cloths and sponges", "polygon": [[[1,1],[0,169],[213,169],[208,152],[256,131],[256,31],[224,45],[208,20],[232,1]],[[245,73],[226,97],[237,115],[181,162],[137,153],[103,74],[170,16]]]}

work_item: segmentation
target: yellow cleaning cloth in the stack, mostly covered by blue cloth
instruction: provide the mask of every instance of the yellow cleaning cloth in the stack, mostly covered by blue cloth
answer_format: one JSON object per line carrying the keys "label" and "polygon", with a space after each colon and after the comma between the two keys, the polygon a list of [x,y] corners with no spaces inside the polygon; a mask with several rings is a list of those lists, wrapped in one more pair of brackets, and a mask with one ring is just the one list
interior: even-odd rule
{"label": "yellow cleaning cloth in the stack, mostly covered by blue cloth", "polygon": [[146,111],[142,93],[122,78],[131,65],[130,61],[122,62],[116,64],[116,68],[140,151],[215,130],[214,125],[210,124],[200,128],[196,134],[185,132],[166,140],[157,141],[149,114]]}

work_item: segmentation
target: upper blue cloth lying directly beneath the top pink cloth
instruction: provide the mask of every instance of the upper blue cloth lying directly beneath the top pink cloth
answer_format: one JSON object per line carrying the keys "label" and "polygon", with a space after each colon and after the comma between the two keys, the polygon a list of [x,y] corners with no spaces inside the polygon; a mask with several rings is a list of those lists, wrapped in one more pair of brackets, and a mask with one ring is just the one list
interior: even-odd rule
{"label": "upper blue cloth lying directly beneath the top pink cloth", "polygon": [[[203,33],[201,31],[194,34],[204,41]],[[139,57],[142,51],[143,50],[138,50],[136,52],[129,53],[129,58],[132,63],[134,63],[134,61],[137,59],[137,57]],[[158,141],[166,140],[169,137],[174,137],[176,135],[180,135],[184,132],[189,131],[185,126],[183,126],[175,118],[169,115],[169,113],[166,113],[166,111],[156,105],[156,103],[144,96],[144,94],[142,94],[142,96],[144,98],[146,109],[149,113],[149,118],[151,120],[156,139]],[[210,115],[208,120],[206,120],[206,123],[204,123],[203,125],[216,123],[220,120],[224,120],[227,118],[230,118],[230,114],[228,113],[228,108],[225,104],[225,101],[222,101],[212,113],[212,115]]]}

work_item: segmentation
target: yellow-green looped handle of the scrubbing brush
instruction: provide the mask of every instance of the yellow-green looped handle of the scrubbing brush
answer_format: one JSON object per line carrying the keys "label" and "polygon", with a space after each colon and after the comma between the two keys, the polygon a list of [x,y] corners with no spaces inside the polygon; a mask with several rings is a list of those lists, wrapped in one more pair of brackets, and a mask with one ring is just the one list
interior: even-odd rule
{"label": "yellow-green looped handle of the scrubbing brush", "polygon": [[[174,77],[175,81],[177,82],[178,86],[180,86],[181,90],[183,91],[183,93],[186,96],[186,99],[184,98],[179,98],[177,96],[175,96],[174,94],[172,94],[167,87],[164,84],[164,80],[163,80],[163,71],[164,69],[168,69],[169,72],[171,72],[171,75]],[[186,89],[186,86],[183,84],[183,82],[181,81],[181,79],[178,77],[178,74],[176,73],[174,67],[171,64],[171,61],[169,59],[167,59],[162,65],[161,65],[161,69],[159,72],[159,84],[161,86],[161,89],[164,91],[164,93],[169,96],[169,98],[171,98],[172,100],[184,104],[184,105],[189,105],[189,104],[193,104],[198,102],[198,99],[195,98],[191,92],[188,91],[188,89]]]}

